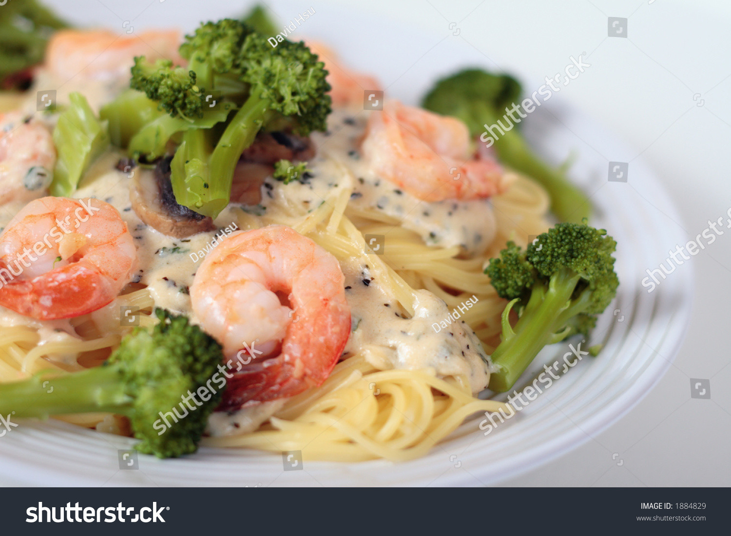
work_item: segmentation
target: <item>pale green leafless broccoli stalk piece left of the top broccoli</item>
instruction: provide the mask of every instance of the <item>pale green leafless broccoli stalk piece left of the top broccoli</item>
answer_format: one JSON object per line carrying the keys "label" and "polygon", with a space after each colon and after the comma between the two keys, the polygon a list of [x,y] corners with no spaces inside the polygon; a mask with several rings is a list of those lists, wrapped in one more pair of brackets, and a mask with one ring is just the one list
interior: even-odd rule
{"label": "pale green leafless broccoli stalk piece left of the top broccoli", "polygon": [[56,166],[50,194],[70,196],[91,163],[109,146],[107,122],[99,120],[81,93],[69,94],[69,107],[58,116],[53,129]]}

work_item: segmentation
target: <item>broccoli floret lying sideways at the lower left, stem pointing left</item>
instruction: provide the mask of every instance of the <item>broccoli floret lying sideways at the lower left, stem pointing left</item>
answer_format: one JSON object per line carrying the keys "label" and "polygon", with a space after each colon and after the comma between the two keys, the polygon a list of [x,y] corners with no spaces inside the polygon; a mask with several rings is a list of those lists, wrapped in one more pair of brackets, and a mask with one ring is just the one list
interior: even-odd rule
{"label": "broccoli floret lying sideways at the lower left, stem pointing left", "polygon": [[[156,309],[159,323],[152,332],[136,328],[126,335],[100,367],[73,372],[50,380],[53,391],[41,388],[39,375],[0,385],[0,413],[15,412],[18,418],[45,418],[59,413],[111,412],[129,418],[138,451],[170,458],[194,453],[208,416],[221,399],[221,389],[210,384],[223,359],[221,345],[188,322],[184,316]],[[211,394],[187,416],[161,414],[190,400],[205,387]],[[213,392],[211,388],[213,387]],[[192,402],[191,402],[192,403]],[[178,414],[182,414],[182,410]]]}

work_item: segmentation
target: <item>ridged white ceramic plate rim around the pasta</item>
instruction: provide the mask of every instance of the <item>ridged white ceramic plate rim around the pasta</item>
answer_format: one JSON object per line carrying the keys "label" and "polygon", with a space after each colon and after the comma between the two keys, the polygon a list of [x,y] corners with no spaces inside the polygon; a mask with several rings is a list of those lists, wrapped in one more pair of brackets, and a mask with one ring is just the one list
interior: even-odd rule
{"label": "ridged white ceramic plate rim around the pasta", "polygon": [[[201,12],[192,2],[181,1],[175,9],[149,5],[140,26],[152,26],[161,9],[166,9],[167,22],[183,28],[192,28],[200,18],[231,12],[221,6],[212,7],[214,13],[209,7]],[[276,9],[296,14],[300,6],[278,3]],[[317,16],[299,28],[295,37],[325,39],[338,46],[352,66],[374,72],[382,80],[395,80],[386,90],[388,96],[417,102],[439,74],[459,66],[485,65],[482,55],[458,40],[441,42],[420,58],[438,37],[366,14],[344,16],[340,9],[317,9]],[[84,9],[75,13],[83,13],[81,22],[107,21],[108,26],[118,26],[118,20],[95,2],[85,2]],[[344,20],[359,23],[349,25]],[[373,28],[381,30],[377,43],[371,39]],[[520,74],[519,66],[512,70]],[[692,296],[690,270],[676,272],[649,294],[640,281],[645,269],[658,267],[665,259],[668,248],[685,240],[676,226],[665,224],[665,218],[678,221],[679,217],[651,170],[635,159],[628,183],[607,182],[607,160],[591,148],[616,155],[612,157],[616,160],[632,152],[601,126],[561,104],[558,96],[531,114],[526,135],[553,161],[566,158],[571,150],[577,153],[572,177],[592,193],[596,206],[592,223],[605,227],[618,242],[616,269],[621,286],[616,303],[602,316],[591,340],[605,343],[602,353],[595,359],[584,357],[487,437],[478,429],[481,418],[477,417],[428,456],[401,464],[305,462],[303,470],[284,471],[281,456],[275,454],[203,448],[186,459],[140,456],[138,470],[120,470],[118,449],[130,448],[132,440],[57,421],[23,422],[0,438],[0,474],[13,483],[47,486],[475,485],[497,483],[586,442],[647,394],[681,345]],[[531,371],[562,359],[567,349],[568,343],[545,349]],[[521,381],[526,384],[532,378],[526,372]]]}

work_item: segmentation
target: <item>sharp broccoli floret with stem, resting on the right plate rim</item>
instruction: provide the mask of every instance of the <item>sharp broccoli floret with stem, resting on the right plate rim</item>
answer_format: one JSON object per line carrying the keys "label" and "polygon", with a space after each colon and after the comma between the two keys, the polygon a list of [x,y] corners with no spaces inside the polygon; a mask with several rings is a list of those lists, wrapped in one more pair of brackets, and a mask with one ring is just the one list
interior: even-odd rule
{"label": "sharp broccoli floret with stem, resting on the right plate rim", "polygon": [[[616,245],[604,229],[558,223],[526,250],[509,242],[500,258],[490,261],[485,273],[498,295],[511,300],[491,356],[498,368],[490,378],[493,391],[510,389],[545,345],[594,328],[619,285]],[[516,304],[518,323],[511,328],[508,314]]]}

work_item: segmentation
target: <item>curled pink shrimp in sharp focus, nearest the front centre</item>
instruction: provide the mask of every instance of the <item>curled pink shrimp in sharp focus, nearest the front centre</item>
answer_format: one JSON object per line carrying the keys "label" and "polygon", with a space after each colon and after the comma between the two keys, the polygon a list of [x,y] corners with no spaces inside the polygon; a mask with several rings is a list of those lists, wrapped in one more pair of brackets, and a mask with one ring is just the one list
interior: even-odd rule
{"label": "curled pink shrimp in sharp focus, nearest the front centre", "polygon": [[343,282],[335,257],[287,226],[233,233],[208,253],[190,288],[194,313],[227,356],[256,354],[237,364],[222,407],[327,379],[350,334]]}

